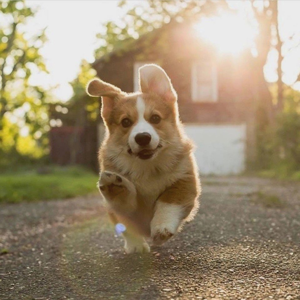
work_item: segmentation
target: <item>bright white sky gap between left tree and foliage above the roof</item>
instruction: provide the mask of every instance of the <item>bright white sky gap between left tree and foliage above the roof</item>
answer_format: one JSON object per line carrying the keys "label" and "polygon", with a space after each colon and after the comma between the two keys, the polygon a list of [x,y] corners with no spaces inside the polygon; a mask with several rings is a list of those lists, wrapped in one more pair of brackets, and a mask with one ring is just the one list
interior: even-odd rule
{"label": "bright white sky gap between left tree and foliage above the roof", "polygon": [[121,14],[118,1],[27,0],[26,3],[33,8],[39,7],[36,17],[28,24],[28,30],[47,27],[48,38],[41,54],[46,59],[49,75],[45,78],[38,74],[32,81],[59,85],[56,95],[68,100],[72,95],[68,82],[76,77],[81,60],[93,62],[95,36],[100,24]]}

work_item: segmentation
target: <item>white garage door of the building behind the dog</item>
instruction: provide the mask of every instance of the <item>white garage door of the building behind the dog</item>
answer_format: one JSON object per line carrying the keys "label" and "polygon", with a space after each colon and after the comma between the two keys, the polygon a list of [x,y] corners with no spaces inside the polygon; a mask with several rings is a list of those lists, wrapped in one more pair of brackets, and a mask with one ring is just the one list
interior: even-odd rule
{"label": "white garage door of the building behind the dog", "polygon": [[185,125],[201,174],[237,174],[245,168],[246,125]]}

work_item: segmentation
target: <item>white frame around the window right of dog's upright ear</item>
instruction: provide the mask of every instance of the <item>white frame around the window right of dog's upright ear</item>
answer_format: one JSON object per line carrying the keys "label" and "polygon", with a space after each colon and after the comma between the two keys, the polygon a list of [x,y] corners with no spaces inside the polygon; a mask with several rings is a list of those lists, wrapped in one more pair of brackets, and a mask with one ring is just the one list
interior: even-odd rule
{"label": "white frame around the window right of dog's upright ear", "polygon": [[211,61],[212,66],[212,98],[210,100],[201,100],[197,95],[197,66],[202,61],[197,61],[192,64],[191,72],[191,92],[193,102],[217,102],[218,101],[218,74],[217,74],[217,64]]}

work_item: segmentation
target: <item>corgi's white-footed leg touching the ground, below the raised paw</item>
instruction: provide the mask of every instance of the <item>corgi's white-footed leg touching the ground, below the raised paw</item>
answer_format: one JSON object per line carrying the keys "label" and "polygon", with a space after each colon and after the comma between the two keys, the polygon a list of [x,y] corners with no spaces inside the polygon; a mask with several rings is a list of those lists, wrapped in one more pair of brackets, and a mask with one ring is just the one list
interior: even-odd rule
{"label": "corgi's white-footed leg touching the ground, below the raised paw", "polygon": [[[118,224],[118,216],[116,216],[113,212],[108,212],[108,215],[113,222],[114,225]],[[126,221],[123,221],[123,225],[126,226]],[[123,237],[125,240],[124,249],[127,254],[131,253],[148,253],[150,252],[150,247],[145,239],[139,235],[138,233],[134,232],[134,229],[130,226],[126,226],[126,231],[123,232]]]}

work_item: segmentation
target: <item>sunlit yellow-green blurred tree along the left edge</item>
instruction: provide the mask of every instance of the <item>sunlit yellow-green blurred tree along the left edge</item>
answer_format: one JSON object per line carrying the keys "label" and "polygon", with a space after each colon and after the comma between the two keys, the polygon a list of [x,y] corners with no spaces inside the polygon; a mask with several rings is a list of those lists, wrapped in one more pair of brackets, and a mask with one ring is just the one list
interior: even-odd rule
{"label": "sunlit yellow-green blurred tree along the left edge", "polygon": [[47,72],[39,49],[44,31],[30,36],[26,22],[35,12],[25,1],[0,1],[0,164],[12,154],[40,158],[47,151],[47,93],[31,74]]}

